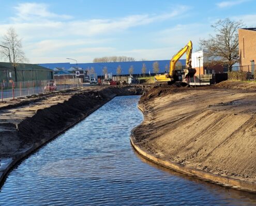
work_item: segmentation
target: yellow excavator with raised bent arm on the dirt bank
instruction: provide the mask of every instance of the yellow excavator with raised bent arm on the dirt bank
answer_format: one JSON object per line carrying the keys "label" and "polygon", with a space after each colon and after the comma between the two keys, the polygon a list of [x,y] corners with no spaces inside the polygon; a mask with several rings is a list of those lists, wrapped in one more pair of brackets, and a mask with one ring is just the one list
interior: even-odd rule
{"label": "yellow excavator with raised bent arm on the dirt bank", "polygon": [[[185,53],[186,54],[186,68],[182,70],[175,70],[175,66],[177,61],[182,57]],[[164,75],[156,75],[155,81],[156,82],[168,82],[168,84],[172,84],[175,82],[182,81],[182,75],[184,78],[186,77],[193,77],[195,74],[195,69],[191,66],[191,54],[192,54],[192,42],[189,41],[188,44],[179,50],[179,52],[174,55],[170,61],[170,71],[169,74]]]}

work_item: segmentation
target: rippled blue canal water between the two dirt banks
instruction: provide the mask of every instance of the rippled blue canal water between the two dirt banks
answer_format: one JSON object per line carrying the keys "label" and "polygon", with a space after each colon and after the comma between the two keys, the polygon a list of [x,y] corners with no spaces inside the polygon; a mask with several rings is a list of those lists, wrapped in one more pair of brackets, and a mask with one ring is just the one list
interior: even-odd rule
{"label": "rippled blue canal water between the two dirt banks", "polygon": [[129,136],[139,96],[116,97],[14,168],[0,205],[255,205],[231,190],[148,162]]}

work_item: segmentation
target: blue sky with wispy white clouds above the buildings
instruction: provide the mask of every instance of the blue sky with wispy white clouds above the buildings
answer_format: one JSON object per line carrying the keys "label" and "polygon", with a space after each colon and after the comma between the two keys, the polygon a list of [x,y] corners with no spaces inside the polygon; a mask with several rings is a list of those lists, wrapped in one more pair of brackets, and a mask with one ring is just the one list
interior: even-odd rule
{"label": "blue sky with wispy white clouds above the buildings", "polygon": [[[129,56],[167,60],[189,40],[214,34],[220,19],[256,26],[255,0],[0,0],[0,42],[16,29],[29,63],[93,62]],[[0,57],[0,61],[4,61]]]}

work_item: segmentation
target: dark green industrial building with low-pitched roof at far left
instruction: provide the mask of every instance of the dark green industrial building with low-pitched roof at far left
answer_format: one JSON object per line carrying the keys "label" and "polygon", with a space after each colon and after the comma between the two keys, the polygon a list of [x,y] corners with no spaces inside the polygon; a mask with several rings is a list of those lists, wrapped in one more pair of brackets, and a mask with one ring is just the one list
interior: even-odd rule
{"label": "dark green industrial building with low-pitched roof at far left", "polygon": [[53,79],[53,70],[39,66],[37,64],[19,63],[16,66],[16,72],[9,62],[0,62],[0,82]]}

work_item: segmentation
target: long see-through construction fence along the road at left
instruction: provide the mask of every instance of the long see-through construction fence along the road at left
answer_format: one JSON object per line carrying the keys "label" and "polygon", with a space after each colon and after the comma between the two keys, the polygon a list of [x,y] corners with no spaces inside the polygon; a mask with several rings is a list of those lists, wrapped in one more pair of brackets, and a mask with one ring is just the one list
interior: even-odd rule
{"label": "long see-through construction fence along the road at left", "polygon": [[67,89],[79,88],[82,86],[80,79],[73,81],[63,80],[63,82],[54,82],[53,80],[38,81],[20,81],[0,83],[1,100],[6,98],[21,98],[25,96],[49,93],[52,91],[62,91]]}

